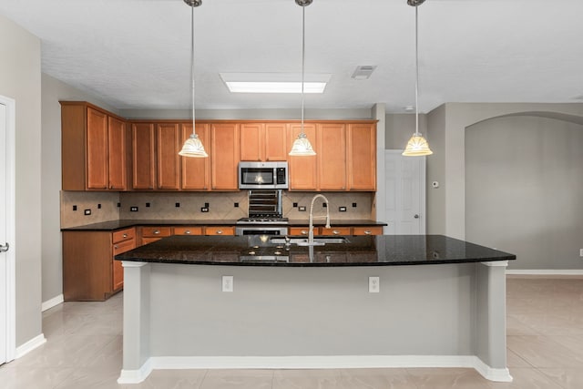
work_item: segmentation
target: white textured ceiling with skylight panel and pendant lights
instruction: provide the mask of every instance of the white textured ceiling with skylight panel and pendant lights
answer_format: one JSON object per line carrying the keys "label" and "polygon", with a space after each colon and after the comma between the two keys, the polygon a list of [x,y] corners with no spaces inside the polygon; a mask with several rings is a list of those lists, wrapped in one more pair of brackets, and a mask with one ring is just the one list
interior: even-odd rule
{"label": "white textured ceiling with skylight panel and pendant lights", "polygon": [[[203,0],[196,107],[299,107],[299,95],[230,94],[220,72],[301,70],[294,0]],[[42,41],[42,69],[120,109],[190,105],[190,8],[183,0],[0,0]],[[419,106],[583,102],[582,0],[427,0],[419,6]],[[364,81],[358,65],[375,65]],[[330,73],[307,108],[414,106],[414,8],[406,0],[313,0],[307,73]]]}

